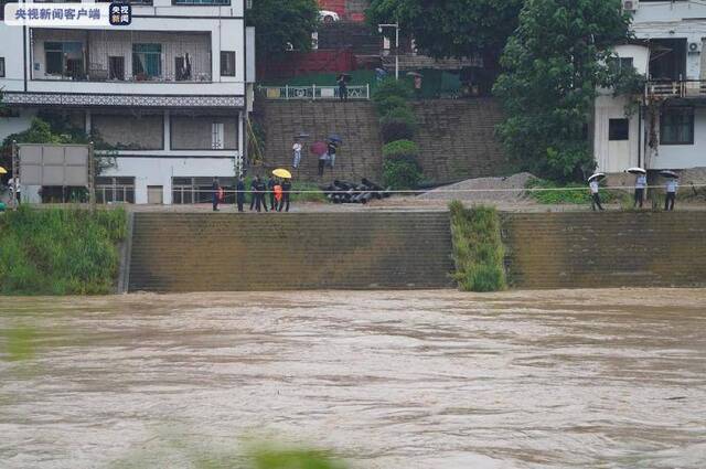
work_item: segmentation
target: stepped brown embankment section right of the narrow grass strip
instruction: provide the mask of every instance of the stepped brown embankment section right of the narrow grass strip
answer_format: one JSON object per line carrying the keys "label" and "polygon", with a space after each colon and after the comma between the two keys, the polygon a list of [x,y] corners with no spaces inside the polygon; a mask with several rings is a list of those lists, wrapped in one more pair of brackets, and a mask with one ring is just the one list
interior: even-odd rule
{"label": "stepped brown embankment section right of the narrow grass strip", "polygon": [[505,214],[516,288],[704,287],[706,212]]}

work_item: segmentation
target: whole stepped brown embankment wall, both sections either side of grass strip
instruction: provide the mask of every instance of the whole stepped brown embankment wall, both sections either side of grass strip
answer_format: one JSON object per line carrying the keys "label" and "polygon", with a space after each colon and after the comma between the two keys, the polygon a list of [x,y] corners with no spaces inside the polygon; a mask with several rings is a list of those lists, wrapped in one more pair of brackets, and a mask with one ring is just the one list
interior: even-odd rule
{"label": "whole stepped brown embankment wall, both sections either side of grass strip", "polygon": [[[706,287],[706,212],[502,214],[517,289]],[[129,290],[452,288],[440,212],[136,213]]]}

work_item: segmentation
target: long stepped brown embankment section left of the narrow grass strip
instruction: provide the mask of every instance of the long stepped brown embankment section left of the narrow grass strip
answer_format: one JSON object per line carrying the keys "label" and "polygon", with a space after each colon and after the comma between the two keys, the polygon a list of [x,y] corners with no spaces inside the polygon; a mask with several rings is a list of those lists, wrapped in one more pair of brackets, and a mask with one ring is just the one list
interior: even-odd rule
{"label": "long stepped brown embankment section left of the narrow grass strip", "polygon": [[446,213],[136,213],[130,291],[447,288]]}

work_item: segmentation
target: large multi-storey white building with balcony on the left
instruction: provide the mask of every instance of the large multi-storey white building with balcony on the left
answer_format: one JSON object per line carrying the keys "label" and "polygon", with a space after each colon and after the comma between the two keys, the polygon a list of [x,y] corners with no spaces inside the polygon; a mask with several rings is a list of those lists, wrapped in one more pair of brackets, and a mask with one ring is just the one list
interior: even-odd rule
{"label": "large multi-storey white building with balcony on the left", "polygon": [[128,3],[125,26],[0,24],[0,88],[11,109],[0,138],[40,111],[60,113],[117,157],[98,180],[99,201],[206,201],[197,189],[213,177],[232,185],[245,148],[254,78],[246,0]]}

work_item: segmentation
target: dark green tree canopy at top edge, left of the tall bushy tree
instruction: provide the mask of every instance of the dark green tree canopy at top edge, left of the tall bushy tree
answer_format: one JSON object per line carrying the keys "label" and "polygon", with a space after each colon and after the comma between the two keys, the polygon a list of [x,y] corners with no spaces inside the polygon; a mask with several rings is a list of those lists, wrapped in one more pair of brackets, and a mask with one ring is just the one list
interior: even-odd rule
{"label": "dark green tree canopy at top edge, left of the tall bushy tree", "polygon": [[371,24],[399,22],[434,57],[480,55],[493,68],[517,25],[524,0],[373,0]]}

